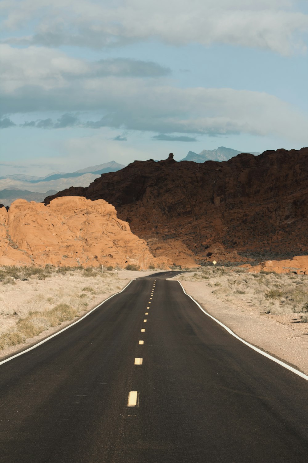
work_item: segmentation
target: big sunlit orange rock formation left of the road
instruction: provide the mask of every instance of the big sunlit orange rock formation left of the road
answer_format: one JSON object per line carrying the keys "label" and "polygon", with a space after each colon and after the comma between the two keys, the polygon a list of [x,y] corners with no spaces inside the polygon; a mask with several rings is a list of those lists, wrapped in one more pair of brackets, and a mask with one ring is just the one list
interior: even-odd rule
{"label": "big sunlit orange rock formation left of the road", "polygon": [[8,212],[0,208],[0,265],[134,263],[148,268],[161,261],[104,200],[63,197],[48,206],[16,200]]}

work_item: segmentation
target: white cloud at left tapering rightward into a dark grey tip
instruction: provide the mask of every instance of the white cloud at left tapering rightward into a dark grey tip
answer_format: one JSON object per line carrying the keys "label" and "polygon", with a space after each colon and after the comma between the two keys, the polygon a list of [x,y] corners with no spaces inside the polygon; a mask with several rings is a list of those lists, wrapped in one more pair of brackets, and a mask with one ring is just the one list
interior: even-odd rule
{"label": "white cloud at left tapering rightward into a dark grey tip", "polygon": [[15,48],[0,44],[0,78],[6,91],[21,85],[40,85],[46,90],[62,87],[74,79],[97,79],[106,76],[158,78],[171,70],[152,61],[109,58],[86,61],[67,56],[60,50],[30,46]]}

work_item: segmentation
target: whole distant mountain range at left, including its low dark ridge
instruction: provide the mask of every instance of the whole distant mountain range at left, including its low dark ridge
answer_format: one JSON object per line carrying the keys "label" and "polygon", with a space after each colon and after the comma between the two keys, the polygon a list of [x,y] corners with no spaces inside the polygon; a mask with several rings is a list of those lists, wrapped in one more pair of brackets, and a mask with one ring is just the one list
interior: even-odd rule
{"label": "whole distant mountain range at left, including its low dark ridge", "polygon": [[[9,206],[13,200],[18,198],[42,201],[46,196],[65,188],[88,187],[101,174],[116,172],[123,167],[125,167],[123,164],[111,161],[75,172],[52,172],[45,177],[23,174],[4,175],[0,177],[0,202]],[[50,190],[53,193],[49,193]]]}

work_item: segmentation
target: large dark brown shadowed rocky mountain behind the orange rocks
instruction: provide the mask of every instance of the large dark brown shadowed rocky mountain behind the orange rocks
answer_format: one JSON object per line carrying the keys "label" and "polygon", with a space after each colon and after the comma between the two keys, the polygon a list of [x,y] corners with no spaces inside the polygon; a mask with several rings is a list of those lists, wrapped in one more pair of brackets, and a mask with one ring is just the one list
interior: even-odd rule
{"label": "large dark brown shadowed rocky mountain behind the orange rocks", "polygon": [[308,148],[226,162],[135,161],[45,204],[59,196],[108,201],[154,256],[172,250],[206,260],[217,244],[272,258],[308,251]]}

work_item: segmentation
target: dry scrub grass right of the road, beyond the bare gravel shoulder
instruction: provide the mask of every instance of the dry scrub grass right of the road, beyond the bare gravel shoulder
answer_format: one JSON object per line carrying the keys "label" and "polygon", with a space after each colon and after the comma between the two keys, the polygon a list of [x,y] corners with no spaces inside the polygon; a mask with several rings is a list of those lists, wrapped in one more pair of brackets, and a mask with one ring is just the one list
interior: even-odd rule
{"label": "dry scrub grass right of the road, beyond the bare gravel shoulder", "polygon": [[[203,267],[179,280],[201,282],[212,287],[218,298],[232,302],[242,299],[259,307],[261,313],[277,315],[303,314],[299,321],[308,322],[308,276],[276,273],[246,273],[243,269]],[[226,299],[227,298],[227,299]]]}

